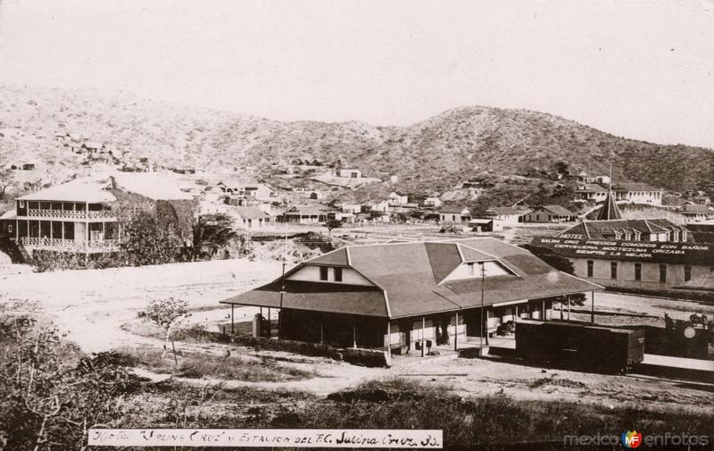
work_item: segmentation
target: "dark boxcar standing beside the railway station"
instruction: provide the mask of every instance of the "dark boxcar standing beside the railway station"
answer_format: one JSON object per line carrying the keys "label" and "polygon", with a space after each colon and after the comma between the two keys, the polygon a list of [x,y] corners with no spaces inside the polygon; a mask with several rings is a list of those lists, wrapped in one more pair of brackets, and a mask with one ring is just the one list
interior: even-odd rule
{"label": "dark boxcar standing beside the railway station", "polygon": [[579,322],[519,321],[516,352],[553,366],[624,373],[643,361],[644,332]]}

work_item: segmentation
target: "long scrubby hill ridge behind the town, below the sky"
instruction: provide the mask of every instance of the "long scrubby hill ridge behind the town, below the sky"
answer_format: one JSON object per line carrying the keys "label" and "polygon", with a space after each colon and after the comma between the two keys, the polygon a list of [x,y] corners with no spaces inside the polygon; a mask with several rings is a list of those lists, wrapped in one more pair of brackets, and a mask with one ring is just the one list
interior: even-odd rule
{"label": "long scrubby hill ridge behind the town, below the sky", "polygon": [[[87,91],[0,86],[0,167],[37,160],[43,177],[87,171],[58,131],[104,142],[122,161],[256,175],[274,183],[295,158],[360,168],[379,190],[444,192],[478,172],[547,179],[558,162],[674,191],[712,189],[714,151],[619,138],[547,113],[471,106],[407,127],[281,122]],[[393,177],[395,176],[395,177]],[[395,182],[394,182],[395,180]]]}

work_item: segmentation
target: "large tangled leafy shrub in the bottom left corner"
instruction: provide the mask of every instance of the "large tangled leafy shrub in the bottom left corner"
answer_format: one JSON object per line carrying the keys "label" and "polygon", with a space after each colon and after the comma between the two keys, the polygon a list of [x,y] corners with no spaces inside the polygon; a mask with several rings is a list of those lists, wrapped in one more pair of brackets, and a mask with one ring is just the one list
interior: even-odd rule
{"label": "large tangled leafy shrub in the bottom left corner", "polygon": [[87,429],[112,427],[134,380],[114,355],[84,355],[58,330],[0,317],[0,447],[83,449]]}

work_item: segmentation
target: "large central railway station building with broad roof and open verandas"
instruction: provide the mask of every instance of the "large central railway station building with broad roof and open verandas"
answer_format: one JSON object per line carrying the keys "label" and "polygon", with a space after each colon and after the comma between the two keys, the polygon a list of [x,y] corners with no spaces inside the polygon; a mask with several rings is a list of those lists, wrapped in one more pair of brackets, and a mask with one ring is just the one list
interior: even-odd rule
{"label": "large central railway station building with broad roof and open verandas", "polygon": [[281,338],[399,354],[423,353],[426,341],[473,346],[482,309],[486,336],[517,318],[550,319],[555,296],[600,289],[521,247],[468,238],[345,246],[221,303],[279,309]]}

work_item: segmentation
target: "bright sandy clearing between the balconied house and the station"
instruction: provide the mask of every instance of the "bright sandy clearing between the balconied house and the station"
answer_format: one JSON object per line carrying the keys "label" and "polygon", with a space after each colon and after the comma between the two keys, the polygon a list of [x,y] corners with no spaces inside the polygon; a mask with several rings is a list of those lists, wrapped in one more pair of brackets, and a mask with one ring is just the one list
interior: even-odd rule
{"label": "bright sandy clearing between the balconied house and the station", "polygon": [[[152,299],[169,296],[193,308],[278,277],[279,263],[217,260],[105,270],[21,272],[0,279],[0,302],[21,301],[46,314],[87,352],[153,343],[120,330]],[[205,316],[199,313],[198,318]],[[248,314],[248,313],[245,313]]]}

